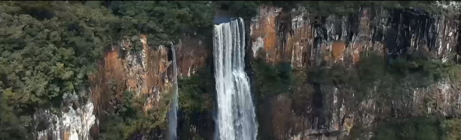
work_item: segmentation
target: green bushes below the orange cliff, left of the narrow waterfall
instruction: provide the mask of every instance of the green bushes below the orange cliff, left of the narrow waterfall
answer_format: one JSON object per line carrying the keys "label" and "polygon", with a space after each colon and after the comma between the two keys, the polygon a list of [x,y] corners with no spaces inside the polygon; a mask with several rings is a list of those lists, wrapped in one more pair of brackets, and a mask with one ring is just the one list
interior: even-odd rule
{"label": "green bushes below the orange cliff, left of the narrow waterfall", "polygon": [[145,109],[146,97],[135,97],[133,92],[125,91],[123,100],[115,103],[112,110],[106,110],[104,119],[100,120],[100,139],[126,140],[135,132],[142,134],[165,128],[167,105],[164,97],[160,99],[158,106]]}

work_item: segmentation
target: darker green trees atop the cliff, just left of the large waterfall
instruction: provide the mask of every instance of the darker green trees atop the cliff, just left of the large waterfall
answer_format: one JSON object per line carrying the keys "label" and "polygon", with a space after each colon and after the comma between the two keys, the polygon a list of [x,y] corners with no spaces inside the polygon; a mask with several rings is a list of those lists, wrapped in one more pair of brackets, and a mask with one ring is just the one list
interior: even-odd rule
{"label": "darker green trees atop the cliff, just left of the large waterfall", "polygon": [[127,20],[123,29],[143,33],[155,45],[177,40],[183,34],[195,34],[213,24],[209,1],[112,1],[109,7]]}

